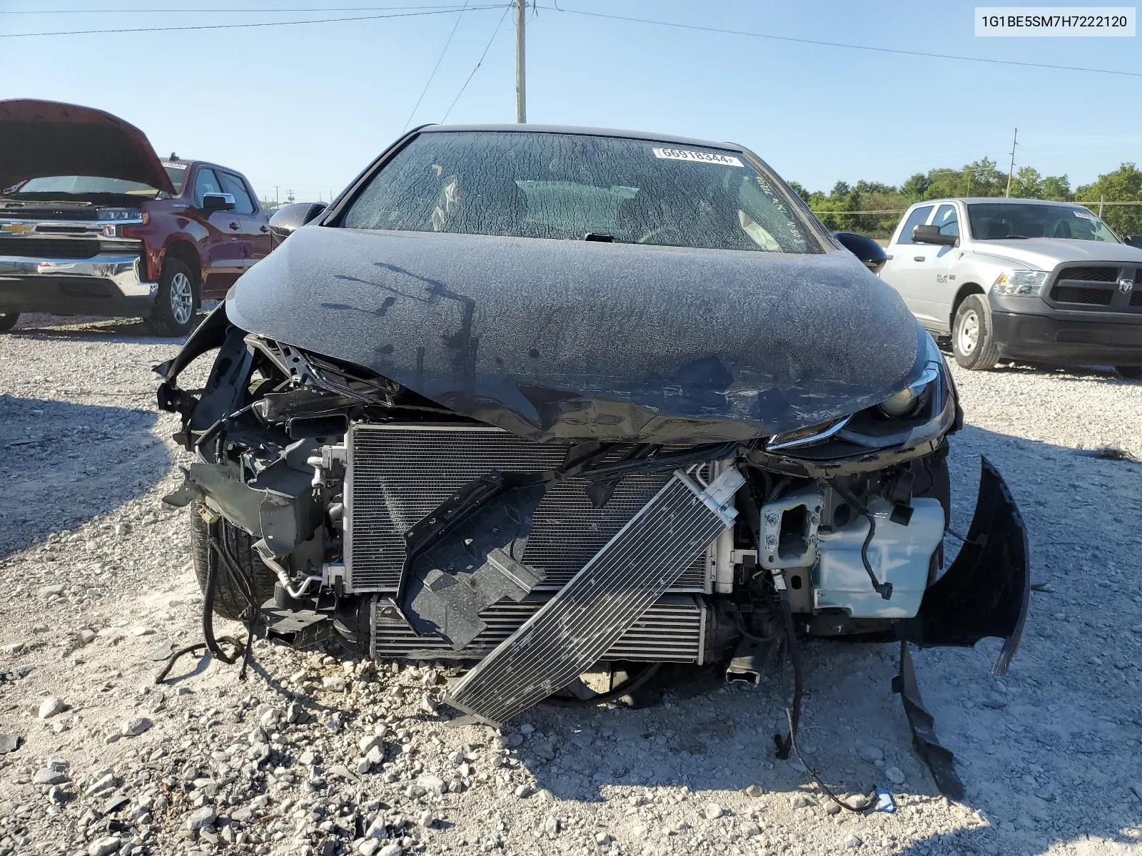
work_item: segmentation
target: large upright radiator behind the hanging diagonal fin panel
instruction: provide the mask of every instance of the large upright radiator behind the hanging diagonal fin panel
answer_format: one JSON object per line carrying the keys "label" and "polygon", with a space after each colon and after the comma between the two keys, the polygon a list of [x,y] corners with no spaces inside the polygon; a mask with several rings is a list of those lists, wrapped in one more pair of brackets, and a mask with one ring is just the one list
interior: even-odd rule
{"label": "large upright radiator behind the hanging diagonal fin panel", "polygon": [[[395,591],[404,565],[404,533],[473,479],[492,470],[555,469],[570,445],[532,443],[481,426],[355,425],[345,476],[345,587]],[[536,510],[523,563],[541,568],[540,591],[561,588],[662,485],[669,473],[627,476],[603,508],[569,478]],[[705,557],[682,573],[674,591],[707,591]]]}

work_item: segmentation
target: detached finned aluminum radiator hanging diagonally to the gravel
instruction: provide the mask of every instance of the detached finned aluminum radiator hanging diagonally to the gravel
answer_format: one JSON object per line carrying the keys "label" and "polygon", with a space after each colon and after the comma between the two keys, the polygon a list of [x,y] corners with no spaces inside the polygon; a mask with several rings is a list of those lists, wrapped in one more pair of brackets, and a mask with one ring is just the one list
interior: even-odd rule
{"label": "detached finned aluminum radiator hanging diagonally to the gravel", "polygon": [[449,692],[448,703],[500,724],[570,684],[733,523],[737,512],[725,506],[743,482],[730,469],[703,492],[675,473],[542,609]]}

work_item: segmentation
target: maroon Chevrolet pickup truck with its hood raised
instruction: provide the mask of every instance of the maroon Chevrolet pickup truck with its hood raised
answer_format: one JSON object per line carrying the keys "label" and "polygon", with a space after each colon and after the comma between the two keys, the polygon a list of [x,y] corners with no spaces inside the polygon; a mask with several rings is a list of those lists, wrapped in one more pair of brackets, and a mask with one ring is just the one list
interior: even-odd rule
{"label": "maroon Chevrolet pickup truck with its hood raised", "polygon": [[91,107],[0,100],[0,332],[21,313],[139,317],[183,336],[273,249],[235,170],[160,160]]}

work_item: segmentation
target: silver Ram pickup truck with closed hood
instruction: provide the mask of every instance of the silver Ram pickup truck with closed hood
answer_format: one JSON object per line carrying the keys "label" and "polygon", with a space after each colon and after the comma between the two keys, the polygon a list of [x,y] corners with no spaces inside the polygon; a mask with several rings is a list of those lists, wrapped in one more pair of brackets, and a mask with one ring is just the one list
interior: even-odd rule
{"label": "silver Ram pickup truck with closed hood", "polygon": [[[1136,239],[1131,239],[1131,244]],[[997,360],[1142,377],[1142,249],[1067,202],[944,199],[904,213],[880,277],[965,369]]]}

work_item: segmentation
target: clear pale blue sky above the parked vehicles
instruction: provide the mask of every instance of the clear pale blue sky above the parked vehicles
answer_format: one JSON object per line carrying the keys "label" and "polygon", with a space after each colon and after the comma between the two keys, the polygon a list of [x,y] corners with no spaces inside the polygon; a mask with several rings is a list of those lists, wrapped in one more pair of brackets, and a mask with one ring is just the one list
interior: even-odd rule
{"label": "clear pale blue sky above the parked vehicles", "polygon": [[[469,0],[472,6],[497,2]],[[975,38],[974,2],[957,0],[539,0],[526,26],[532,122],[734,140],[811,189],[828,189],[838,179],[899,184],[912,172],[984,155],[1006,167],[1015,127],[1016,165],[1065,172],[1072,185],[1121,161],[1142,161],[1139,76],[681,30],[557,11],[550,8],[555,2],[565,10],[801,39],[1142,72],[1137,37]],[[461,3],[0,0],[0,37],[354,17]],[[327,11],[346,7],[376,10]],[[219,11],[224,8],[266,11]],[[413,123],[441,120],[501,15],[500,9],[464,14]],[[240,169],[259,194],[273,196],[280,185],[282,195],[291,187],[299,199],[328,199],[401,132],[456,23],[457,14],[448,13],[298,26],[0,38],[0,98],[100,107],[140,127],[161,155],[177,151]],[[514,120],[513,34],[508,14],[450,122]]]}

